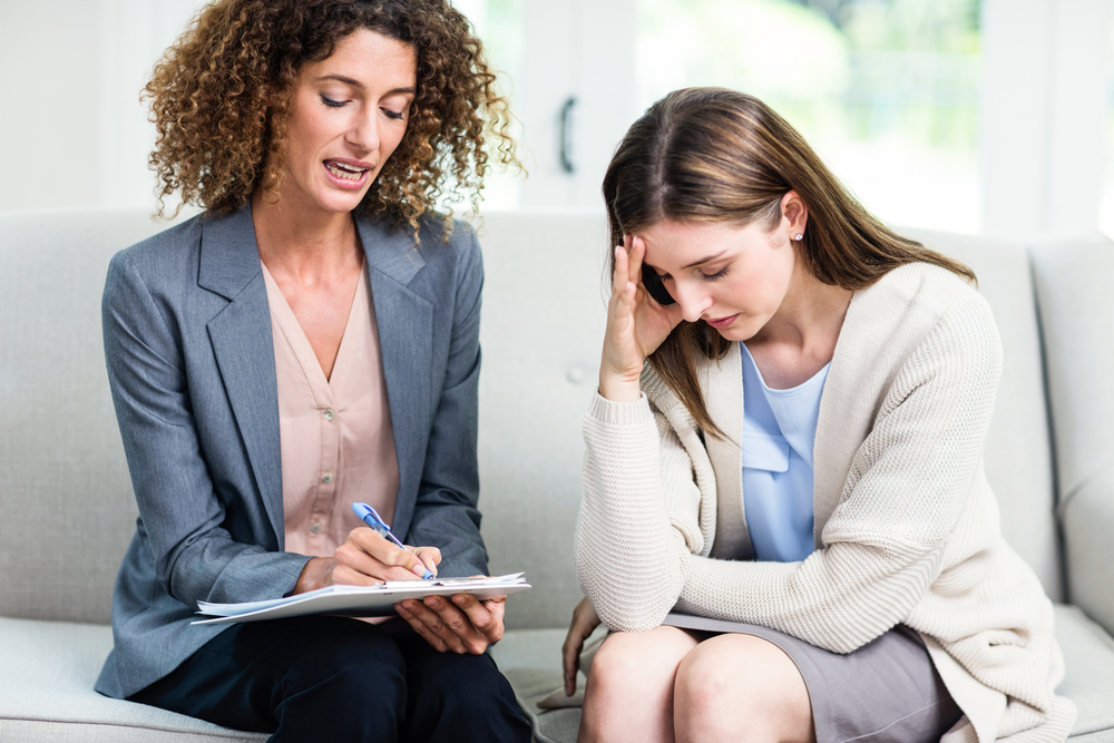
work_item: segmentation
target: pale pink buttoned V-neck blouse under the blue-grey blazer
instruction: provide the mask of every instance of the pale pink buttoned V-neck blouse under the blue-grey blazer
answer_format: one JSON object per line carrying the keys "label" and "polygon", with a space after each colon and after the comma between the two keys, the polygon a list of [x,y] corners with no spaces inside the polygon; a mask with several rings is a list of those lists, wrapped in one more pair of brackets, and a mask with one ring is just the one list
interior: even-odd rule
{"label": "pale pink buttoned V-neck blouse under the blue-grey blazer", "polygon": [[390,524],[399,492],[391,409],[368,274],[356,286],[330,379],[263,266],[278,381],[286,551],[331,557],[363,526],[363,501]]}

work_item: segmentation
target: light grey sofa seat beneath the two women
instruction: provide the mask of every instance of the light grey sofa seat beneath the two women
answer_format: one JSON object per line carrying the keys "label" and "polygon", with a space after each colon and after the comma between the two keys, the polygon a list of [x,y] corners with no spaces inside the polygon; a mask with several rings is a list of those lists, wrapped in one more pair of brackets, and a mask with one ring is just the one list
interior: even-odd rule
{"label": "light grey sofa seat beneath the two women", "polygon": [[[1073,606],[1056,607],[1067,663],[1059,691],[1078,706],[1071,740],[1114,743],[1114,642]],[[578,708],[538,708],[561,684],[564,629],[512,629],[491,654],[510,680],[541,743],[571,743]],[[266,740],[92,691],[113,646],[105,625],[0,617],[0,740],[80,743],[203,743]],[[580,676],[580,688],[584,676]],[[49,700],[49,702],[46,702]]]}

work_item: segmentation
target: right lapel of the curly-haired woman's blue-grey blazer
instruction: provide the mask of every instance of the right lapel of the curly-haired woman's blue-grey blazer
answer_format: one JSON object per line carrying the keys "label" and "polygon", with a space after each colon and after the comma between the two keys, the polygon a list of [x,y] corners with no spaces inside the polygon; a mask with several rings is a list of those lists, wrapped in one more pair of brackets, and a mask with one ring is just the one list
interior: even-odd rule
{"label": "right lapel of the curly-haired woman's blue-grey blazer", "polygon": [[405,231],[390,229],[382,221],[356,219],[368,256],[379,350],[391,407],[394,452],[399,463],[399,496],[391,530],[410,529],[433,405],[433,305],[409,284],[426,265]]}

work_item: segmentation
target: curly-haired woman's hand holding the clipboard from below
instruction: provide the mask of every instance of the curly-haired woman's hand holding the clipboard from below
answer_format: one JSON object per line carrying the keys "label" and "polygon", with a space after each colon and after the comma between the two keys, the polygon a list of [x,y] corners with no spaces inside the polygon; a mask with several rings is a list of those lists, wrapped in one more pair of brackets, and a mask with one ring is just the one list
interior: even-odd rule
{"label": "curly-haired woman's hand holding the clipboard from below", "polygon": [[506,596],[481,602],[471,594],[409,598],[394,608],[433,649],[480,655],[502,638]]}

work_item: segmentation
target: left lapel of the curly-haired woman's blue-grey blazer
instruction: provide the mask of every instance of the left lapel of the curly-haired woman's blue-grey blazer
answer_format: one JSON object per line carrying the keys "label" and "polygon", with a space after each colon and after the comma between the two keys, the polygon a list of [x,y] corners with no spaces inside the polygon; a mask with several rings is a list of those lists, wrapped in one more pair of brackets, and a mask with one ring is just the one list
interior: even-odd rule
{"label": "left lapel of the curly-haired woman's blue-grey blazer", "polygon": [[277,549],[282,550],[285,526],[278,383],[271,310],[250,204],[232,216],[204,222],[197,283],[229,301],[209,321],[209,341]]}

